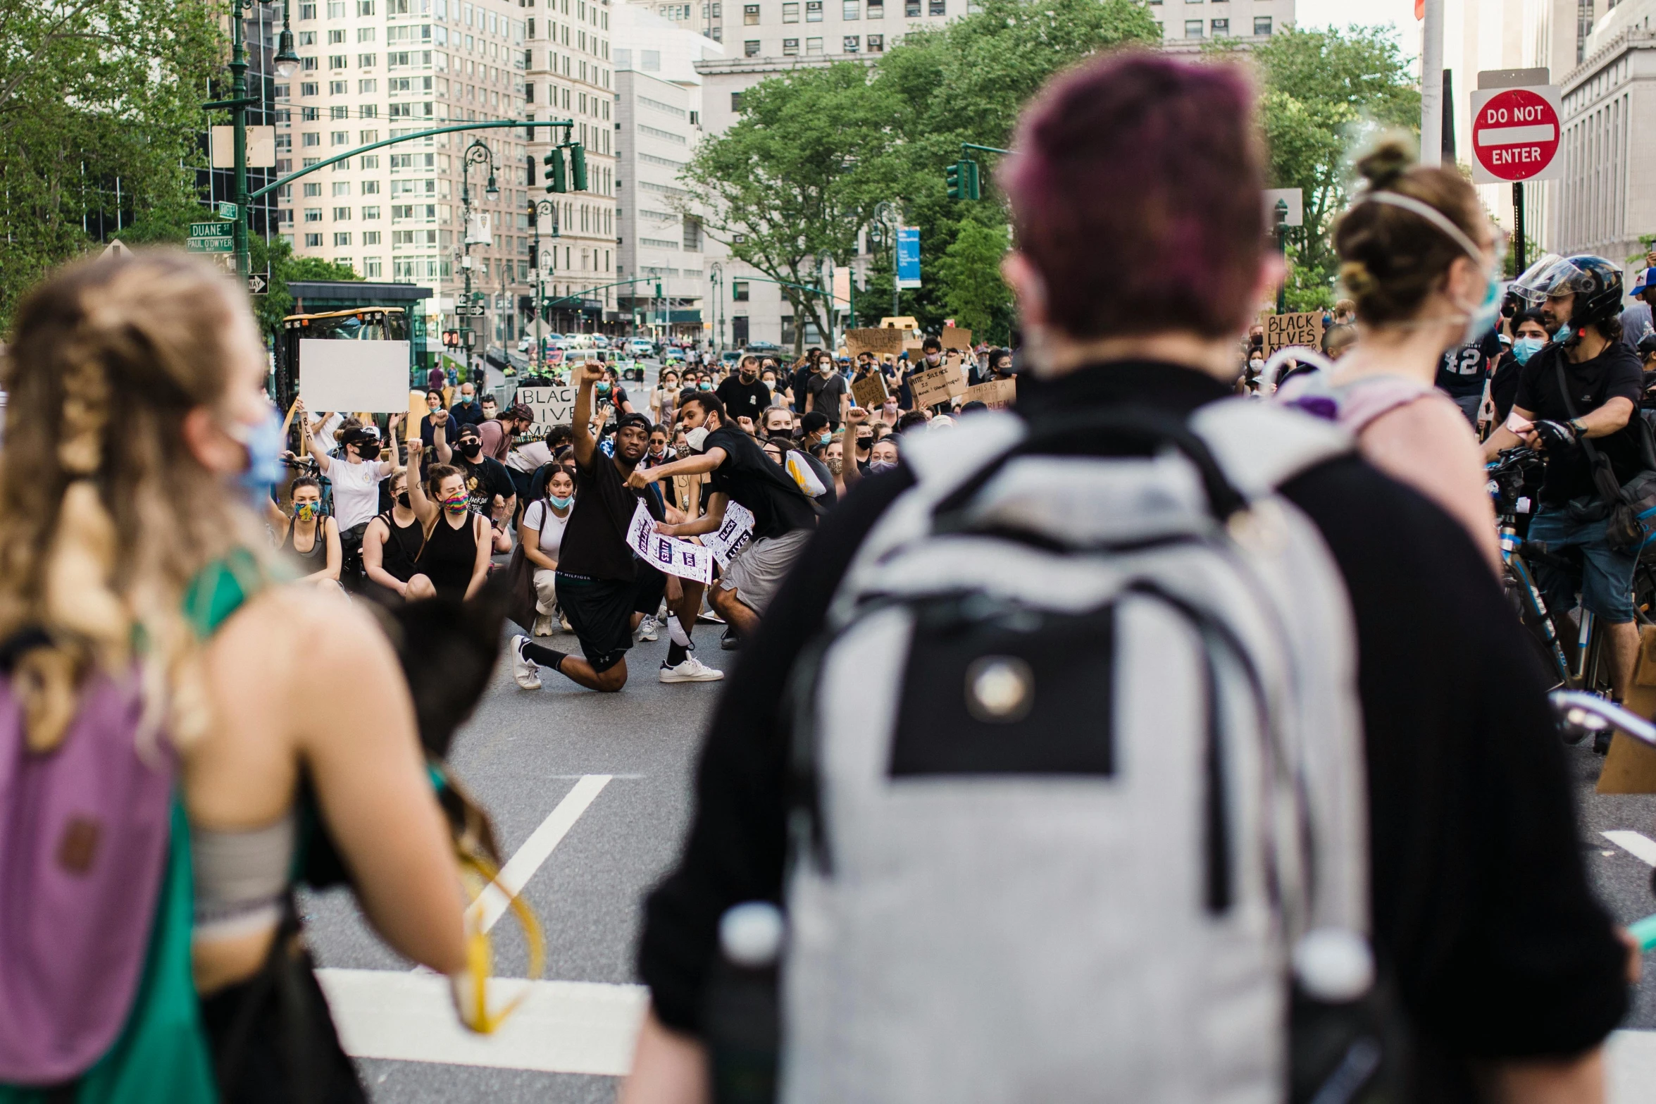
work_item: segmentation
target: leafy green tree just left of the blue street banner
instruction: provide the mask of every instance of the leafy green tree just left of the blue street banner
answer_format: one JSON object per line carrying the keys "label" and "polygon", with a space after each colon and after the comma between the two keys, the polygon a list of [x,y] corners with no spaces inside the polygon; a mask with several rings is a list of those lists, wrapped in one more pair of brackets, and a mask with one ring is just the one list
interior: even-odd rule
{"label": "leafy green tree just left of the blue street banner", "polygon": [[795,353],[805,348],[805,319],[828,333],[826,300],[813,290],[820,258],[850,265],[858,232],[889,195],[889,99],[866,66],[798,70],[744,91],[740,118],[702,142],[679,177],[686,195],[676,205],[782,285]]}

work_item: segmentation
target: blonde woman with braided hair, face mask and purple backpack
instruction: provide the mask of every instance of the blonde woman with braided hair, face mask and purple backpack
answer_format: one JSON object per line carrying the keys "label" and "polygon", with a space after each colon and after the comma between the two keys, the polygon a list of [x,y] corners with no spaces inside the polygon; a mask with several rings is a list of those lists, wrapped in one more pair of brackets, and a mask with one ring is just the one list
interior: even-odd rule
{"label": "blonde woman with braided hair, face mask and purple backpack", "polygon": [[432,970],[465,968],[465,902],[389,642],[268,571],[282,435],[247,298],[139,252],[50,275],[13,324],[0,1099],[363,1101],[300,942],[303,839]]}

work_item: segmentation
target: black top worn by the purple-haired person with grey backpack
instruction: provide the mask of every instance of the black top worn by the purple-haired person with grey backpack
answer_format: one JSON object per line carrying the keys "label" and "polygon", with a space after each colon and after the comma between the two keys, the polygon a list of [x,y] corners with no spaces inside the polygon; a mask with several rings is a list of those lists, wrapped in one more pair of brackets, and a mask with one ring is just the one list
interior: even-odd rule
{"label": "black top worn by the purple-haired person with grey backpack", "polygon": [[[1050,381],[1018,414],[1119,404],[1186,414],[1225,394],[1192,371],[1110,364]],[[696,819],[646,904],[639,943],[639,973],[669,1028],[699,1030],[724,910],[780,900],[783,687],[864,535],[911,485],[899,465],[823,520],[727,679]],[[1351,598],[1374,947],[1411,1025],[1419,1082],[1404,1099],[1477,1101],[1475,1059],[1578,1054],[1628,1001],[1626,952],[1586,886],[1547,680],[1489,564],[1441,508],[1355,457],[1283,493],[1323,533]]]}

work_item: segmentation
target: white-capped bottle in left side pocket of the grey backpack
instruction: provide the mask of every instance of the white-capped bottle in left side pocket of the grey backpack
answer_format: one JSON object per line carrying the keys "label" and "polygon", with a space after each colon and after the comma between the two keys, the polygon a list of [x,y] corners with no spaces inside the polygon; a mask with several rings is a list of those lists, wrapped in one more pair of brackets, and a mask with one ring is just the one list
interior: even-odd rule
{"label": "white-capped bottle in left side pocket of the grey backpack", "polygon": [[702,1011],[714,1104],[777,1099],[782,930],[782,910],[768,900],[734,905],[719,920],[720,953]]}

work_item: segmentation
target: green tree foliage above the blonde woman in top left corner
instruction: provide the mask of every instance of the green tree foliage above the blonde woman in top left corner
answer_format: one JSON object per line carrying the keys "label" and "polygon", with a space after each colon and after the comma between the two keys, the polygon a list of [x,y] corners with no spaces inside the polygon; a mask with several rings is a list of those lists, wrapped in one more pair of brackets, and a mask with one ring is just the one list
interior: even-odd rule
{"label": "green tree foliage above the blonde woman in top left corner", "polygon": [[94,245],[181,242],[209,78],[224,60],[212,0],[0,3],[0,323],[41,275]]}

